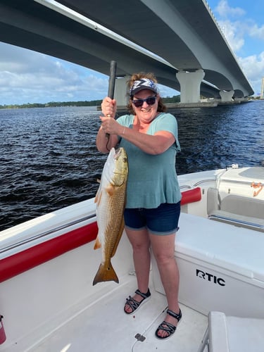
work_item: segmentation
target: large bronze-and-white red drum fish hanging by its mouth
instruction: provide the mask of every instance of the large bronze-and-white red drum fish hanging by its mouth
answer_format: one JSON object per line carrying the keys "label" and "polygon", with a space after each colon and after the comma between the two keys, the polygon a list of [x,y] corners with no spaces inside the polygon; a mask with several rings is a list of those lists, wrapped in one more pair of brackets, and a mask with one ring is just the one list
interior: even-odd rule
{"label": "large bronze-and-white red drum fish hanging by its mouth", "polygon": [[97,191],[96,218],[99,232],[94,249],[101,248],[102,260],[93,285],[98,282],[119,282],[111,264],[124,230],[124,209],[127,190],[128,163],[124,148],[111,149],[103,167]]}

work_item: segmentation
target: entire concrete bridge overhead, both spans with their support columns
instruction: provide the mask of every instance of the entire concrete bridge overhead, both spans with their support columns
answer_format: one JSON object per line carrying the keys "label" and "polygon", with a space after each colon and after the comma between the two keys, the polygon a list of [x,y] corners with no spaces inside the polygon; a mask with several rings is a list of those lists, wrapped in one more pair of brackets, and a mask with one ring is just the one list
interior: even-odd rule
{"label": "entire concrete bridge overhead, both spans with their support columns", "polygon": [[106,75],[110,61],[117,61],[121,104],[126,102],[127,77],[141,70],[180,91],[182,103],[196,103],[200,94],[222,101],[253,94],[206,1],[60,3],[84,17],[45,0],[0,0],[0,41]]}

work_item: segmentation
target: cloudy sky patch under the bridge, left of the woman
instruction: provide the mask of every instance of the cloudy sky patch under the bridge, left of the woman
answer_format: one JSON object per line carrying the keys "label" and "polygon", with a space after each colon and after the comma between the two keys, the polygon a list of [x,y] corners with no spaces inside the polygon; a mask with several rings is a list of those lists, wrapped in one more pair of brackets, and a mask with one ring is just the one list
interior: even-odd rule
{"label": "cloudy sky patch under the bridge, left of the woman", "polygon": [[27,49],[0,43],[0,104],[102,99],[108,77]]}

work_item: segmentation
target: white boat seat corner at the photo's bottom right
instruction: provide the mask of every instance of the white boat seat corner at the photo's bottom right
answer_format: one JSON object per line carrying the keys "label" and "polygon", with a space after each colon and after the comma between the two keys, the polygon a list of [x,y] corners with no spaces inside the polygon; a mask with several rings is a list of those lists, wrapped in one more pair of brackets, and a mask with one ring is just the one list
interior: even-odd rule
{"label": "white boat seat corner at the photo's bottom right", "polygon": [[264,319],[226,316],[222,312],[208,315],[210,352],[263,352]]}

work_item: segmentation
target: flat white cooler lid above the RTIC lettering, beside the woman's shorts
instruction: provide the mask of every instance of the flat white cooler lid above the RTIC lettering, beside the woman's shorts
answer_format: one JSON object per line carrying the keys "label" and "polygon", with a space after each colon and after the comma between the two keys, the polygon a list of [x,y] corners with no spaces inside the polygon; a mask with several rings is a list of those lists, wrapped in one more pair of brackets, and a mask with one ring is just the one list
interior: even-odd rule
{"label": "flat white cooler lid above the RTIC lettering, beside the woman's shorts", "polygon": [[264,282],[264,234],[181,213],[175,252]]}

